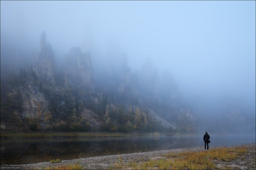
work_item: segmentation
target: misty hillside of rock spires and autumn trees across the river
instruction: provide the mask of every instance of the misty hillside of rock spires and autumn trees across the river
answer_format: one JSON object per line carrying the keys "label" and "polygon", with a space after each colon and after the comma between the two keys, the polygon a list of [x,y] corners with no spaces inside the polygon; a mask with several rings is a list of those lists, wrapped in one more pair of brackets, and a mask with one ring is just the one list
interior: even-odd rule
{"label": "misty hillside of rock spires and autumn trees across the river", "polygon": [[90,52],[71,48],[57,69],[45,32],[40,48],[35,65],[20,68],[19,75],[1,76],[5,130],[196,130],[194,116],[175,95],[175,82],[161,88],[165,94],[159,92],[158,73],[150,61],[141,72],[132,72],[123,55],[116,65],[109,61],[94,74]]}

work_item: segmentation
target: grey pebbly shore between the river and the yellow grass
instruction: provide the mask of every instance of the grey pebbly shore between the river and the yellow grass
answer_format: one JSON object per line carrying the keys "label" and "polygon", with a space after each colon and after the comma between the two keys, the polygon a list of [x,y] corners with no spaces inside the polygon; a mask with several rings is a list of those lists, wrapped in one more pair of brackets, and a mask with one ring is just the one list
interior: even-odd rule
{"label": "grey pebbly shore between the river and the yellow grass", "polygon": [[[243,144],[241,146],[252,147],[250,152],[244,154],[241,158],[232,161],[217,161],[215,163],[217,167],[225,167],[229,166],[232,169],[255,169],[255,143],[252,144]],[[210,149],[214,148],[233,148],[236,146],[218,146],[218,147],[210,147]],[[164,154],[169,152],[178,153],[183,151],[203,151],[204,148],[202,147],[194,147],[194,148],[180,148],[180,149],[172,149],[172,150],[164,150],[164,151],[153,151],[153,152],[139,152],[139,153],[127,153],[127,154],[120,154],[120,155],[108,155],[108,156],[97,156],[91,158],[82,158],[82,159],[73,159],[73,160],[63,160],[60,163],[50,163],[50,162],[41,162],[36,164],[26,164],[26,165],[15,165],[12,166],[12,169],[45,169],[49,166],[59,166],[59,165],[68,165],[68,164],[80,164],[83,166],[84,169],[108,169],[111,166],[115,166],[119,158],[122,157],[123,164],[128,165],[129,162],[143,162],[149,159],[162,159]],[[10,167],[10,166],[9,166]],[[16,168],[14,168],[16,167]],[[11,169],[11,168],[4,168],[1,166],[1,169]]]}

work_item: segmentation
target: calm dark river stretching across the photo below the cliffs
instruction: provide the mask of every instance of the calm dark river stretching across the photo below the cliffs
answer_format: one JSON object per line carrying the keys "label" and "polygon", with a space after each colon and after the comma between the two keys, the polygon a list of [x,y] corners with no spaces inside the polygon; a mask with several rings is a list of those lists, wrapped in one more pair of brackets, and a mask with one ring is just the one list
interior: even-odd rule
{"label": "calm dark river stretching across the photo below the cliffs", "polygon": [[[204,135],[204,134],[203,134]],[[1,164],[28,164],[51,159],[78,159],[133,152],[201,146],[200,136],[1,139]],[[211,135],[211,146],[255,143],[251,135]],[[204,144],[203,146],[204,147]]]}

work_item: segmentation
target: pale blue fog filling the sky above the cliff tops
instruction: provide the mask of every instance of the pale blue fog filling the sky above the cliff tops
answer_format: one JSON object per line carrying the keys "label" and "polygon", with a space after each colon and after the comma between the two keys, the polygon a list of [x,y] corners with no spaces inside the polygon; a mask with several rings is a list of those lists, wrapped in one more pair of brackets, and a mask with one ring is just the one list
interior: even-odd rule
{"label": "pale blue fog filling the sky above the cliff tops", "polygon": [[56,67],[80,46],[103,89],[104,69],[127,62],[140,85],[159,81],[141,94],[177,92],[170,100],[192,108],[198,131],[255,132],[255,1],[1,1],[0,12],[1,77],[36,63],[45,31]]}

